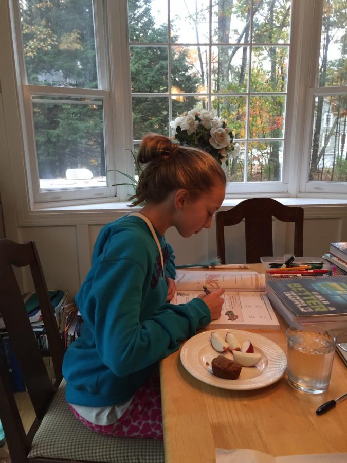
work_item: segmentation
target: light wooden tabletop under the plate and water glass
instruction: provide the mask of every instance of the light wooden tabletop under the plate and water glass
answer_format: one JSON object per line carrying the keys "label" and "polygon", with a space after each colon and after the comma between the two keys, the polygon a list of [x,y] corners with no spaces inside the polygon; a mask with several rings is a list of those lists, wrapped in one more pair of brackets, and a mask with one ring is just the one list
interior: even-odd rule
{"label": "light wooden tabletop under the plate and water glass", "polygon": [[[262,264],[251,270],[264,272]],[[287,325],[254,330],[286,352]],[[252,330],[248,330],[252,331]],[[167,463],[212,463],[215,449],[253,449],[273,456],[347,452],[347,400],[318,416],[322,403],[347,391],[347,368],[335,354],[324,394],[301,393],[287,375],[262,389],[232,391],[205,384],[186,371],[179,350],[160,367]]]}

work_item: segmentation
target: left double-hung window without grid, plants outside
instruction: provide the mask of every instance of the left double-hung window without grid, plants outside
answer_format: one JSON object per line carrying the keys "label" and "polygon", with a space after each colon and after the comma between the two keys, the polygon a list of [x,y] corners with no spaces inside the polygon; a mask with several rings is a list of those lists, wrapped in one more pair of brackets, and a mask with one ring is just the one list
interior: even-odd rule
{"label": "left double-hung window without grid, plants outside", "polygon": [[93,0],[13,3],[35,202],[111,193],[107,50],[95,24],[102,5],[95,6]]}

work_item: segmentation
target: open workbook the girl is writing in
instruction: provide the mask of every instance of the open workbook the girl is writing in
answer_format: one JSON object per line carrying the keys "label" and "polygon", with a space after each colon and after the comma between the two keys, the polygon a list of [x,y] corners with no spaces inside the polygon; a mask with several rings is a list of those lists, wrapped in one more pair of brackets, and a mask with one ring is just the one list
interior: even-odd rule
{"label": "open workbook the girl is writing in", "polygon": [[224,288],[222,315],[210,328],[279,329],[266,295],[265,275],[258,272],[177,270],[173,304],[185,304],[204,293]]}

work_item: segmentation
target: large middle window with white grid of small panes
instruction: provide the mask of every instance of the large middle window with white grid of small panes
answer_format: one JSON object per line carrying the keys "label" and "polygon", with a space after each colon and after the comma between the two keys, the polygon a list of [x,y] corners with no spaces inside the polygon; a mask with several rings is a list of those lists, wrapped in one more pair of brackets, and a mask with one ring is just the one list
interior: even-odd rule
{"label": "large middle window with white grid of small panes", "polygon": [[244,192],[262,191],[265,182],[267,191],[286,190],[291,2],[128,5],[135,146],[149,131],[171,136],[168,122],[185,111],[209,108],[241,145],[229,163],[228,181]]}

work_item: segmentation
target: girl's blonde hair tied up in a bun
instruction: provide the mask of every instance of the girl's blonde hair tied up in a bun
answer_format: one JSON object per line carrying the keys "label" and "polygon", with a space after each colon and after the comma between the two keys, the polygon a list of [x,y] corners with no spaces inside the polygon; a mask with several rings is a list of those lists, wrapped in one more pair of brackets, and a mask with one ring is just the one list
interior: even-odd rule
{"label": "girl's blonde hair tied up in a bun", "polygon": [[170,138],[155,133],[142,139],[137,163],[143,170],[136,193],[130,198],[134,200],[131,206],[161,203],[180,188],[198,198],[214,186],[226,185],[225,173],[211,154],[172,143]]}

